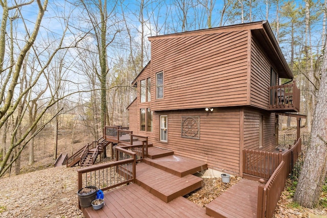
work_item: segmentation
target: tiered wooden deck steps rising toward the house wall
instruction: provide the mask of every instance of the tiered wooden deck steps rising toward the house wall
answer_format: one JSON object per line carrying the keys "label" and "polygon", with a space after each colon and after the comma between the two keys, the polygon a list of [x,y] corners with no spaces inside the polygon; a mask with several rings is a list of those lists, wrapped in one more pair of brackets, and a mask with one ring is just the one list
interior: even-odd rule
{"label": "tiered wooden deck steps rising toward the house wall", "polygon": [[136,165],[136,184],[168,203],[202,187],[202,178],[192,174],[206,168],[202,161],[149,147],[148,158]]}

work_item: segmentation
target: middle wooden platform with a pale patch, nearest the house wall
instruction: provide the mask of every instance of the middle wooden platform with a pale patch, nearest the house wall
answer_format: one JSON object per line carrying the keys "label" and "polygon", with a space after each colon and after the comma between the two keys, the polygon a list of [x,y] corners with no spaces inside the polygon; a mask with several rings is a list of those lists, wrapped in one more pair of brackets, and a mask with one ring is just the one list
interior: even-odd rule
{"label": "middle wooden platform with a pale patch, nearest the house wall", "polygon": [[208,168],[207,164],[202,161],[178,155],[170,155],[156,159],[145,158],[143,162],[179,177],[195,174]]}

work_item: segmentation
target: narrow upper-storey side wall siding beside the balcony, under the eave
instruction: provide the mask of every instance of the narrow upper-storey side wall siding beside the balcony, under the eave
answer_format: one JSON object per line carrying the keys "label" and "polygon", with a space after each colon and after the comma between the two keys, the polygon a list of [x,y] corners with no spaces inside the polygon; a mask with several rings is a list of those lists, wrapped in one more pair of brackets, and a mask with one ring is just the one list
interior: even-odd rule
{"label": "narrow upper-storey side wall siding beside the balcony, under the eave", "polygon": [[250,105],[267,109],[269,104],[270,66],[261,47],[251,39]]}

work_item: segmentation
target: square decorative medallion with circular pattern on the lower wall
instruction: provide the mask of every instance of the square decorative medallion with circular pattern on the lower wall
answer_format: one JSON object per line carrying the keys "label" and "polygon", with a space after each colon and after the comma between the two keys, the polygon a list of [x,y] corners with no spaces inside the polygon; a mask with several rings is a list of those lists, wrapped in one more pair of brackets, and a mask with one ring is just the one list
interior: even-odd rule
{"label": "square decorative medallion with circular pattern on the lower wall", "polygon": [[182,116],[181,136],[183,138],[200,139],[200,117]]}

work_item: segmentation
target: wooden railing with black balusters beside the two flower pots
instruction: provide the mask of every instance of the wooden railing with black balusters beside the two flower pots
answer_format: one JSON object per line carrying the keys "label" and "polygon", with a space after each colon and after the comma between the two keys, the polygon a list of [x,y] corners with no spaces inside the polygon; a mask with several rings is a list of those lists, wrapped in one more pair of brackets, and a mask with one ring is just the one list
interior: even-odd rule
{"label": "wooden railing with black balusters beside the two flower pots", "polygon": [[108,190],[131,182],[135,183],[136,153],[124,148],[117,150],[128,158],[77,169],[78,190],[85,186],[97,186],[101,190]]}

